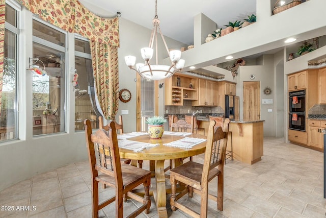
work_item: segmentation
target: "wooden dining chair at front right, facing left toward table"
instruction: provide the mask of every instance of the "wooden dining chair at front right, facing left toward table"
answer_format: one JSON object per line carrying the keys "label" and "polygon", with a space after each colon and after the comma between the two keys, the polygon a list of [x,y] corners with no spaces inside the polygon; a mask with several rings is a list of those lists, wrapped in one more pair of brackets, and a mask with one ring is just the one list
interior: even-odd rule
{"label": "wooden dining chair at front right, facing left toward table", "polygon": [[[209,122],[204,164],[189,161],[170,171],[172,211],[178,208],[193,217],[207,217],[208,198],[216,201],[218,209],[223,210],[224,162],[228,133],[223,132],[221,127],[214,128],[214,125],[214,121]],[[214,196],[208,193],[208,183],[216,176],[218,193]],[[176,194],[177,181],[186,185],[178,195]],[[189,198],[192,198],[193,192],[201,196],[200,213],[178,202],[186,193]]]}

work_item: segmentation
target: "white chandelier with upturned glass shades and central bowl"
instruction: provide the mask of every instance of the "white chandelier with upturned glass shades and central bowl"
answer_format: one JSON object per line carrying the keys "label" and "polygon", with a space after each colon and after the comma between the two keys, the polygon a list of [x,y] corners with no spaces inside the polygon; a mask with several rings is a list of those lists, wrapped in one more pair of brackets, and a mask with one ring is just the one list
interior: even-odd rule
{"label": "white chandelier with upturned glass shades and central bowl", "polygon": [[[169,54],[171,59],[172,65],[161,65],[157,64],[157,30],[162,37],[166,50]],[[155,57],[156,57],[156,64],[150,64],[150,60],[153,57],[153,44],[155,40]],[[164,39],[164,36],[159,28],[159,19],[157,16],[157,0],[155,0],[155,17],[153,19],[153,30],[151,34],[151,38],[149,40],[149,47],[143,47],[141,49],[142,58],[145,60],[144,63],[137,63],[136,66],[136,57],[134,56],[126,56],[125,62],[130,69],[135,70],[138,72],[142,77],[148,80],[162,80],[165,78],[169,78],[173,76],[175,72],[179,72],[184,66],[184,60],[181,58],[181,51],[173,50],[169,52],[168,45]]]}

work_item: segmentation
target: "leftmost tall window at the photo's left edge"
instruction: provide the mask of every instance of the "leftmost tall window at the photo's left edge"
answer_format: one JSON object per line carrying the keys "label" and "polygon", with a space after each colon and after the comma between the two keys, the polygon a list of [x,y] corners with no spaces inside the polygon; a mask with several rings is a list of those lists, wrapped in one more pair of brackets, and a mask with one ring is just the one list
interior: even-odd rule
{"label": "leftmost tall window at the photo's left edge", "polygon": [[17,11],[6,5],[0,140],[17,138]]}

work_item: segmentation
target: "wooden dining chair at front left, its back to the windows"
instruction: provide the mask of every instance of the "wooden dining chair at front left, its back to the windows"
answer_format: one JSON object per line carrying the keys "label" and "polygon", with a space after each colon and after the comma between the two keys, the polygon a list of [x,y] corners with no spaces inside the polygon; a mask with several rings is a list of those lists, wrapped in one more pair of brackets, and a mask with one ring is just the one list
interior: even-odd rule
{"label": "wooden dining chair at front left, its back to the windows", "polygon": [[[123,201],[125,196],[140,203],[137,210],[128,217],[135,217],[145,211],[149,213],[151,201],[149,199],[149,187],[151,184],[151,172],[142,168],[121,163],[117,130],[114,122],[108,124],[108,131],[104,129],[92,133],[89,119],[84,121],[85,135],[88,147],[89,163],[92,171],[92,214],[98,217],[98,211],[116,201],[115,217],[123,217]],[[95,148],[96,147],[96,148]],[[98,154],[98,159],[96,154]],[[116,195],[99,204],[98,183],[104,183],[116,189]],[[144,198],[132,192],[132,189],[143,184],[145,189]]]}

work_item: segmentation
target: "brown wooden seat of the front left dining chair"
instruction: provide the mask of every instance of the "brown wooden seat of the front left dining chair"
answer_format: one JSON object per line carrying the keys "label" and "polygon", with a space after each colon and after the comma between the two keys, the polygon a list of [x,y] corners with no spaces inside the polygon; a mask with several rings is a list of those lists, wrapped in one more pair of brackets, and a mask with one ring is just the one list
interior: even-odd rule
{"label": "brown wooden seat of the front left dining chair", "polygon": [[[143,180],[144,178],[151,175],[151,172],[147,171],[146,169],[138,168],[125,163],[121,163],[121,171],[124,187],[129,186],[135,181]],[[96,180],[110,186],[115,186],[116,184],[116,180],[114,177],[105,174],[98,175],[96,177]]]}

